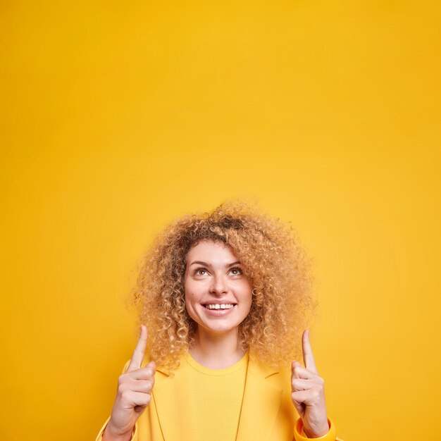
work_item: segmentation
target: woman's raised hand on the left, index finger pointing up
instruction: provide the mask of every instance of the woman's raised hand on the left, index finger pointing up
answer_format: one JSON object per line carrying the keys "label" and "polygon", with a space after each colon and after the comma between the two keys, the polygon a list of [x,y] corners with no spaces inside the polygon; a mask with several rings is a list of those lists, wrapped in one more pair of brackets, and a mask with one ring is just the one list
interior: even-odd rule
{"label": "woman's raised hand on the left, index finger pointing up", "polygon": [[146,346],[147,328],[142,325],[127,371],[118,379],[118,391],[103,441],[130,441],[137,419],[149,405],[156,366],[150,361],[145,368],[141,367]]}

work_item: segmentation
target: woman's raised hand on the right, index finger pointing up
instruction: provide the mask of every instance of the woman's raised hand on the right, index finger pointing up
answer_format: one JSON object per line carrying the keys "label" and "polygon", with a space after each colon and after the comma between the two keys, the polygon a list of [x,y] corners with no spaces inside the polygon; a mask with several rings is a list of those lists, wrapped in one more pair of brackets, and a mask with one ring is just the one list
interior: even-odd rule
{"label": "woman's raised hand on the right, index finger pointing up", "polygon": [[317,438],[328,433],[328,416],[325,404],[325,382],[318,375],[309,330],[302,336],[303,367],[298,361],[292,362],[292,402],[303,421],[303,430],[309,438]]}

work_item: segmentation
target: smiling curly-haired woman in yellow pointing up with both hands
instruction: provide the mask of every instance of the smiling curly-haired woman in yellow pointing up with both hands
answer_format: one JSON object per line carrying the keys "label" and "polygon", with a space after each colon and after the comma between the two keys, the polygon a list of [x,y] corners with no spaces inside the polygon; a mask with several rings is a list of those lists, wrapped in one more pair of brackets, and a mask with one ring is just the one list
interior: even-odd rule
{"label": "smiling curly-haired woman in yellow pointing up with both hands", "polygon": [[338,440],[304,330],[309,261],[287,225],[233,203],[180,218],[132,299],[141,333],[97,441]]}

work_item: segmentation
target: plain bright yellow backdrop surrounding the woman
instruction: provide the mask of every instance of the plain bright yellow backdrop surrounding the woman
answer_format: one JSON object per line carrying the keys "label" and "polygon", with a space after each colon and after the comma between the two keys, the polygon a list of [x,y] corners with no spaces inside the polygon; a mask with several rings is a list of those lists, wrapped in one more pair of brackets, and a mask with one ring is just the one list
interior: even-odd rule
{"label": "plain bright yellow backdrop surrounding the woman", "polygon": [[339,435],[440,439],[434,5],[1,2],[1,440],[94,438],[137,261],[235,196],[316,261]]}

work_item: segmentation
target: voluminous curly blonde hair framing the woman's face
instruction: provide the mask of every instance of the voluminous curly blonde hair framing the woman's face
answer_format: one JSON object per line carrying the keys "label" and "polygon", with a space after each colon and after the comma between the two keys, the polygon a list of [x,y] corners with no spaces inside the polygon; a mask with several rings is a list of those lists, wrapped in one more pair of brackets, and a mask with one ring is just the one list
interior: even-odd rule
{"label": "voluminous curly blonde hair framing the woman's face", "polygon": [[209,213],[178,218],[142,259],[129,302],[149,330],[151,359],[173,370],[194,344],[197,323],[185,307],[184,282],[187,253],[201,240],[228,245],[251,282],[251,309],[239,327],[242,349],[273,366],[299,356],[300,335],[316,306],[311,260],[289,225],[226,201]]}

